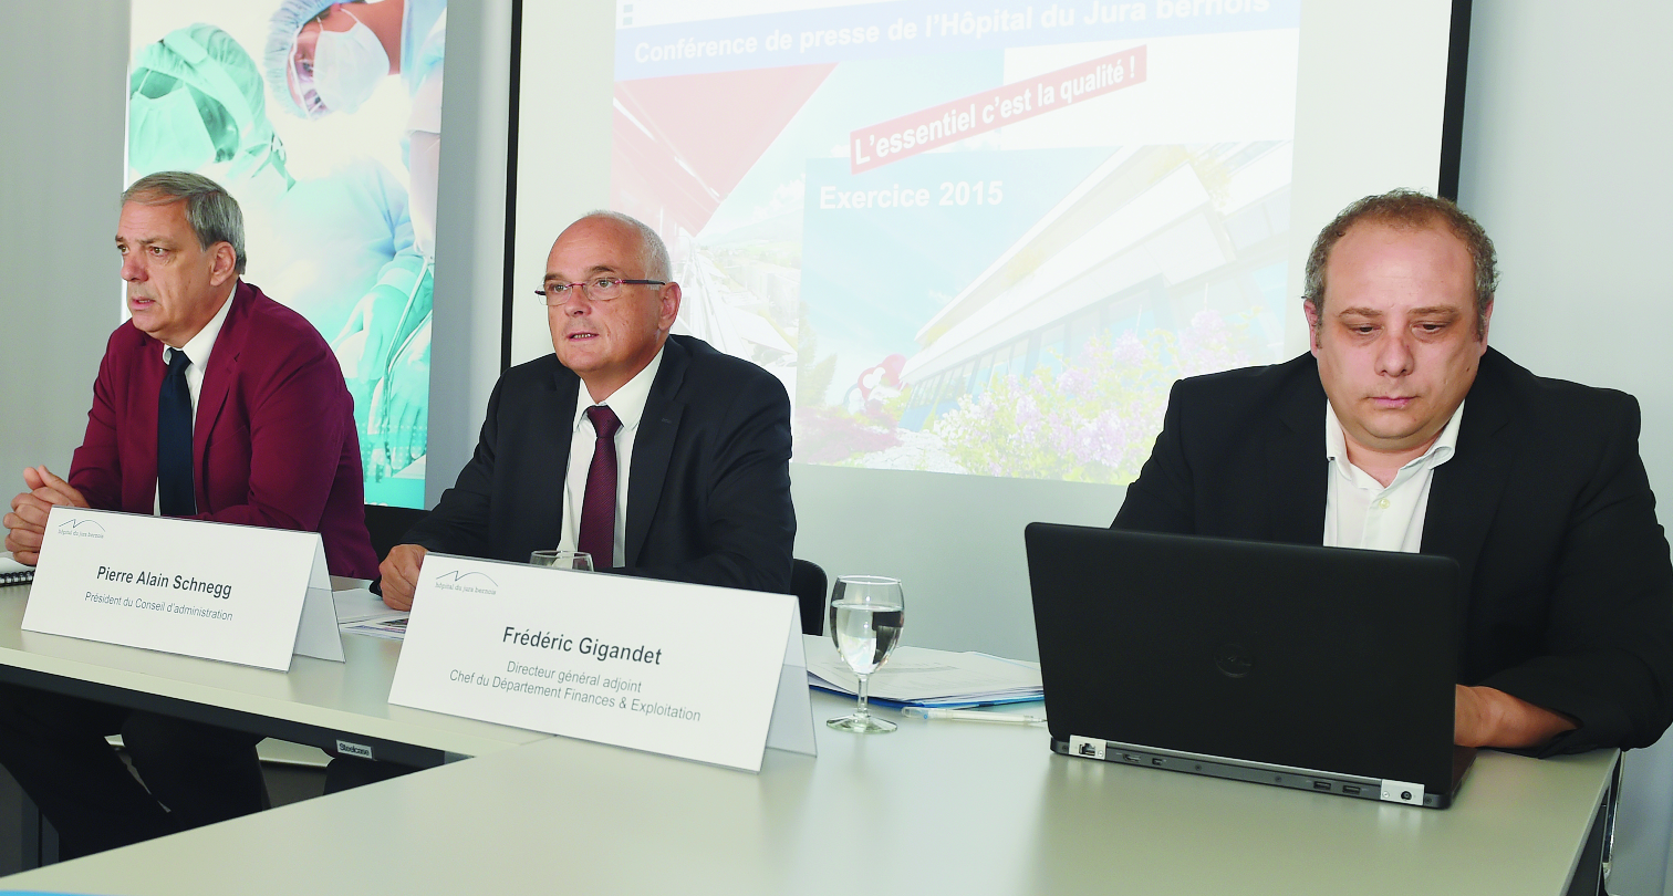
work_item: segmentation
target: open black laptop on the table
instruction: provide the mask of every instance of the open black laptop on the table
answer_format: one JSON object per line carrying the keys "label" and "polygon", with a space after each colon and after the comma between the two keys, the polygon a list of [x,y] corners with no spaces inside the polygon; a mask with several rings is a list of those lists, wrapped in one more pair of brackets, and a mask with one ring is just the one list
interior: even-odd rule
{"label": "open black laptop on the table", "polygon": [[1445,807],[1457,562],[1032,523],[1052,751]]}

